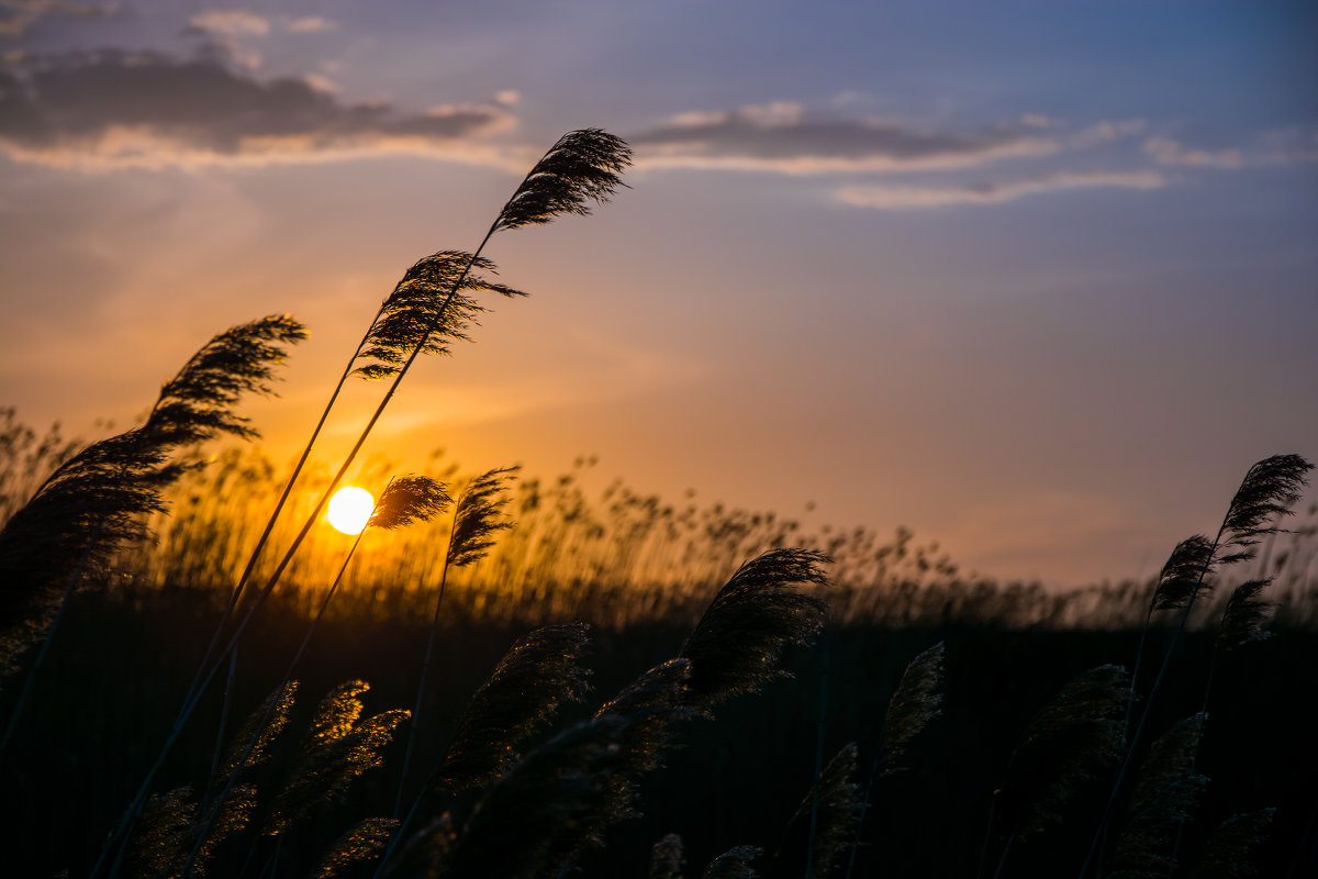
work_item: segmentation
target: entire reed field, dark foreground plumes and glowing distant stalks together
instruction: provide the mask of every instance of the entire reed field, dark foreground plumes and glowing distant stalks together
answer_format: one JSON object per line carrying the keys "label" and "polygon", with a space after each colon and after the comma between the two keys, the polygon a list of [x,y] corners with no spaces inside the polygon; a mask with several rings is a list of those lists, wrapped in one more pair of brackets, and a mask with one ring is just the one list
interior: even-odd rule
{"label": "entire reed field, dark foreground plumes and glowing distant stalks together", "polygon": [[[629,159],[565,134],[474,252],[403,274],[326,407],[382,389],[343,461],[324,416],[283,463],[237,414],[286,315],[115,436],[0,410],[0,872],[1318,875],[1297,455],[1242,461],[1149,581],[1065,592],[905,530],[590,488],[589,459],[357,460],[418,357],[523,295],[486,244],[590,213]],[[324,521],[345,481],[378,494],[356,536]]]}

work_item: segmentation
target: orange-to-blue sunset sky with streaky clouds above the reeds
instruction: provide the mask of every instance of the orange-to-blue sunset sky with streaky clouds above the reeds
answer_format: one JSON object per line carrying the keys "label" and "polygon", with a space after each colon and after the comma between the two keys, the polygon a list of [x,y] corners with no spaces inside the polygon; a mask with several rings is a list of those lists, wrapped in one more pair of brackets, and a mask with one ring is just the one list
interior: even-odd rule
{"label": "orange-to-blue sunset sky with streaky clouds above the reeds", "polygon": [[1304,3],[0,0],[0,406],[127,427],[289,312],[244,412],[291,456],[403,270],[597,127],[629,188],[496,236],[530,297],[368,453],[1152,576],[1318,460],[1314,45]]}

